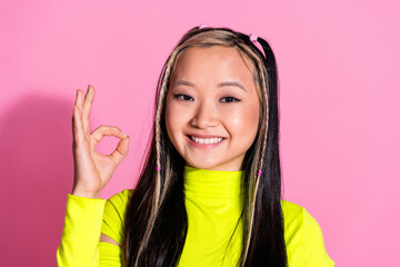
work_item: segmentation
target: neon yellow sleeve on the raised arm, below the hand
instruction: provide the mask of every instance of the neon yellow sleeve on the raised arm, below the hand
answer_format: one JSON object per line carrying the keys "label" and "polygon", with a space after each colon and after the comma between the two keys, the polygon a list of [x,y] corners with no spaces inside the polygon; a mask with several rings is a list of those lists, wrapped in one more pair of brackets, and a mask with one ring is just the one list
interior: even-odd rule
{"label": "neon yellow sleeve on the raised arm, below the hand", "polygon": [[107,200],[68,195],[59,267],[120,267],[120,248],[99,243]]}

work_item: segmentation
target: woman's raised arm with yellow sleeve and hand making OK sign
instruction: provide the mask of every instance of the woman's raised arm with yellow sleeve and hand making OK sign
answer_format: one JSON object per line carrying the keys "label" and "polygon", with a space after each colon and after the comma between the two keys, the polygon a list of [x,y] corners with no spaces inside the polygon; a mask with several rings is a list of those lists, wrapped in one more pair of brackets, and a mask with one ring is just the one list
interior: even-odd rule
{"label": "woman's raised arm with yellow sleeve and hand making OK sign", "polygon": [[[58,266],[120,266],[119,246],[100,241],[106,200],[98,196],[128,155],[129,138],[118,127],[100,126],[89,131],[94,95],[91,86],[86,95],[77,90],[72,115],[74,177],[67,199],[61,245],[57,249]],[[96,151],[104,136],[121,139],[110,155]]]}

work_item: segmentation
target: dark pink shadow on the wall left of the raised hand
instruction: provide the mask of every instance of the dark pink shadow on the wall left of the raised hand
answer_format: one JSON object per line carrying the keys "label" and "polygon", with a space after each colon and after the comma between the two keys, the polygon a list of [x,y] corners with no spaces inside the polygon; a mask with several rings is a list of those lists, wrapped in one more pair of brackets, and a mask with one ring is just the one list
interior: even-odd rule
{"label": "dark pink shadow on the wall left of the raised hand", "polygon": [[0,266],[56,266],[73,180],[70,106],[31,95],[0,117]]}

